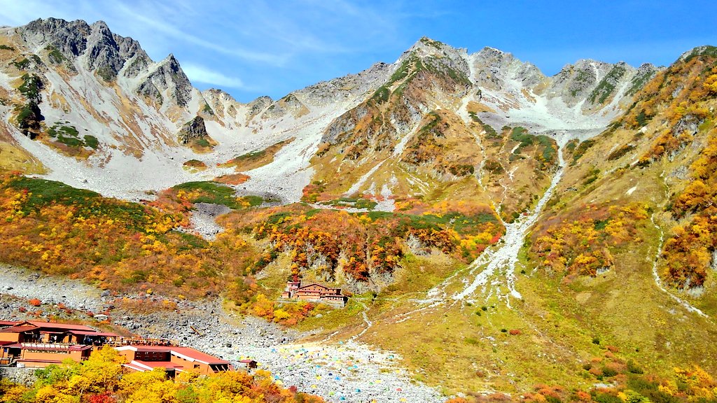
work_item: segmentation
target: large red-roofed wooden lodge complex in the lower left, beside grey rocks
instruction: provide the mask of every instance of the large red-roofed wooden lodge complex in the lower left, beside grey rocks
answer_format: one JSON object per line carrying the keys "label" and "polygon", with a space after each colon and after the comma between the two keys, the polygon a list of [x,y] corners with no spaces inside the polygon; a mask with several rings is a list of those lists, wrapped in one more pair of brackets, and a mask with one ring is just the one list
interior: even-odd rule
{"label": "large red-roofed wooden lodge complex in the lower left, beside grey rocks", "polygon": [[[97,331],[90,326],[40,321],[0,321],[0,366],[44,368],[66,359],[85,361],[92,350],[113,346],[127,363],[125,372],[166,369],[174,377],[180,371],[197,371],[208,375],[233,371],[229,361],[190,347],[175,346],[168,340],[125,339],[115,333]],[[256,361],[241,361],[247,369]]]}

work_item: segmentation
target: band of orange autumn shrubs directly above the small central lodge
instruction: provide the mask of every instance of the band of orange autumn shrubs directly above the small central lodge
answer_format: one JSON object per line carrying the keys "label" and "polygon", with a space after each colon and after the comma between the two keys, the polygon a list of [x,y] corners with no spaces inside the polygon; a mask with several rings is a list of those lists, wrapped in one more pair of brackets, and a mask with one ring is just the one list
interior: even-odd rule
{"label": "band of orange autumn shrubs directly above the small central lodge", "polygon": [[[457,212],[457,207],[462,211]],[[404,256],[404,244],[473,259],[503,233],[489,207],[437,205],[423,214],[350,214],[294,204],[256,212],[234,212],[220,223],[267,241],[253,270],[262,270],[282,252],[291,257],[291,275],[305,270],[331,281],[337,270],[359,281],[371,273],[391,274]]]}

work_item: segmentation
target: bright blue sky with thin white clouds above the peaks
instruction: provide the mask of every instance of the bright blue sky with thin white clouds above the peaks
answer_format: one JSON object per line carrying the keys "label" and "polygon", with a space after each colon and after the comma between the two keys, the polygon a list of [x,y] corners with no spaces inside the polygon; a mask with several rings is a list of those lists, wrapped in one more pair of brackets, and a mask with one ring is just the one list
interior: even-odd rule
{"label": "bright blue sky with thin white clouds above the peaks", "polygon": [[374,62],[422,36],[478,52],[511,52],[546,75],[582,58],[669,65],[717,45],[717,1],[186,1],[0,0],[0,25],[99,19],[154,60],[173,53],[196,87],[242,102]]}

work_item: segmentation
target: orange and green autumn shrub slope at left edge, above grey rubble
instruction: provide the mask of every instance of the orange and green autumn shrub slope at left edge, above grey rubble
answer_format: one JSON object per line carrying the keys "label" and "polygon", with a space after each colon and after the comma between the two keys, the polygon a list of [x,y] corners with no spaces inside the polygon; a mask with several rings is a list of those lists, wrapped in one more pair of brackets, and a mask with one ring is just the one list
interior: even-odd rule
{"label": "orange and green autumn shrub slope at left edge, above grey rubble", "polygon": [[0,261],[168,295],[219,293],[246,274],[241,237],[206,242],[174,231],[186,217],[52,181],[0,176]]}

